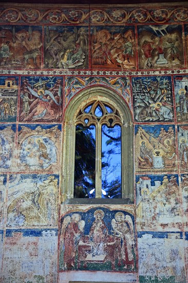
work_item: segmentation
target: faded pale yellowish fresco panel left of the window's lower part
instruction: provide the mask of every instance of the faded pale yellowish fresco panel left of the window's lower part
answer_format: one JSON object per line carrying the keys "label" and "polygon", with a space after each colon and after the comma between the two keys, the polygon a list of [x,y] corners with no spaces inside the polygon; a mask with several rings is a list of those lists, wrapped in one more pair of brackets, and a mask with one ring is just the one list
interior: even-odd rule
{"label": "faded pale yellowish fresco panel left of the window's lower part", "polygon": [[9,179],[7,226],[58,224],[58,175],[12,174]]}

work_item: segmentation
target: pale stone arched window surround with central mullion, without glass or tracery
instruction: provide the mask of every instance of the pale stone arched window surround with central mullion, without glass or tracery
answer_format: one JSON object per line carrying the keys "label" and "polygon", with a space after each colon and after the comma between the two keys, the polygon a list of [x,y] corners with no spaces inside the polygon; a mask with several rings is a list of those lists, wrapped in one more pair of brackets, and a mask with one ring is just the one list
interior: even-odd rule
{"label": "pale stone arched window surround with central mullion, without glass or tracery", "polygon": [[[75,199],[74,193],[74,157],[76,125],[78,125],[78,115],[80,110],[85,109],[86,105],[102,101],[111,105],[112,109],[118,111],[119,125],[121,126],[121,169],[122,169],[122,199],[101,199],[97,193],[95,199]],[[99,127],[98,127],[99,128]],[[63,130],[63,154],[62,154],[62,179],[61,194],[62,203],[66,204],[131,204],[134,201],[134,154],[133,139],[134,127],[133,117],[130,109],[122,96],[115,91],[103,86],[93,86],[89,89],[80,91],[67,105],[64,116]],[[96,133],[101,135],[101,133]],[[99,138],[98,138],[99,140]],[[101,143],[98,145],[98,157],[101,156]],[[98,158],[96,156],[96,159]],[[96,162],[100,166],[101,162]],[[96,168],[99,175],[100,167]],[[100,176],[98,176],[98,180]],[[100,181],[97,184],[100,186]],[[96,188],[99,192],[99,188]]]}

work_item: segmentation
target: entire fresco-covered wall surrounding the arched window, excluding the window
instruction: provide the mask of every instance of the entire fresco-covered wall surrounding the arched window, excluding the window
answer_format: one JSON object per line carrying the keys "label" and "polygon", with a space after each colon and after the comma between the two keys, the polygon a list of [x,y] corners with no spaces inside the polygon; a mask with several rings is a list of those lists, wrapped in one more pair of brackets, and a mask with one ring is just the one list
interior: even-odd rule
{"label": "entire fresco-covered wall surrounding the arched window, excluding the window", "polygon": [[[188,282],[188,7],[0,6],[0,281]],[[134,121],[134,204],[62,203],[64,113]]]}

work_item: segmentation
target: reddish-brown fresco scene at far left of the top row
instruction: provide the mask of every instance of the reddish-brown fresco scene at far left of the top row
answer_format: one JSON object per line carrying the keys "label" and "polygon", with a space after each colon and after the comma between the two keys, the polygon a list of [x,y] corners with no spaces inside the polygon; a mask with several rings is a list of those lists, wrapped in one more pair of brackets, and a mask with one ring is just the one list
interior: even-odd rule
{"label": "reddish-brown fresco scene at far left of the top row", "polygon": [[42,27],[1,26],[0,66],[41,68]]}

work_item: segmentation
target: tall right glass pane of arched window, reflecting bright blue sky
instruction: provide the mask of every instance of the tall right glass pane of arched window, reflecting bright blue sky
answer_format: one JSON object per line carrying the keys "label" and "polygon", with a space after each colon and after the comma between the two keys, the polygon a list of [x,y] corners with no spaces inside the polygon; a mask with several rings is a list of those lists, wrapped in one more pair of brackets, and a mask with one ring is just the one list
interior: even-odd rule
{"label": "tall right glass pane of arched window, reflecting bright blue sky", "polygon": [[121,127],[102,126],[102,198],[121,198]]}

